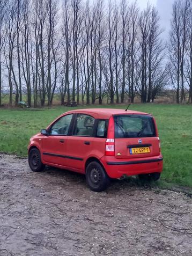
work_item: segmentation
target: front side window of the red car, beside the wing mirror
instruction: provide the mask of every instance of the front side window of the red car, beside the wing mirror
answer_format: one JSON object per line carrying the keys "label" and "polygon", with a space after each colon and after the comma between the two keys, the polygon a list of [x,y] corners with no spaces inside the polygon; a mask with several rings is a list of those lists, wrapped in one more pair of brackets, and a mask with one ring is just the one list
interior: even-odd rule
{"label": "front side window of the red car, beside the wing mirror", "polygon": [[71,123],[72,114],[62,116],[50,129],[50,135],[67,135]]}

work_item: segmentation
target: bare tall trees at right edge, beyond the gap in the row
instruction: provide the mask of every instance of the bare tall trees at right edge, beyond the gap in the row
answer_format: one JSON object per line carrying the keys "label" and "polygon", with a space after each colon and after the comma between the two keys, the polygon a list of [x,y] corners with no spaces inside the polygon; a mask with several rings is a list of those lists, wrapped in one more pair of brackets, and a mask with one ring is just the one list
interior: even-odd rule
{"label": "bare tall trees at right edge, beyond the gap in the row", "polygon": [[184,103],[188,96],[189,103],[192,103],[192,3],[190,0],[177,0],[173,4],[168,48],[170,77],[176,91],[176,102]]}

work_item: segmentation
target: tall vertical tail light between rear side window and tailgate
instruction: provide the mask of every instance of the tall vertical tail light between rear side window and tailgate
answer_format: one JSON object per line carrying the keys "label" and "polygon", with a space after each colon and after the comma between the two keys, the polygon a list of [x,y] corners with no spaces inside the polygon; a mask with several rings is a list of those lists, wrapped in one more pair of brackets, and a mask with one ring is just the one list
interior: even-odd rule
{"label": "tall vertical tail light between rear side window and tailgate", "polygon": [[115,155],[115,130],[114,130],[114,119],[113,116],[109,119],[108,132],[107,132],[107,140],[105,144],[105,155],[106,156],[114,156]]}

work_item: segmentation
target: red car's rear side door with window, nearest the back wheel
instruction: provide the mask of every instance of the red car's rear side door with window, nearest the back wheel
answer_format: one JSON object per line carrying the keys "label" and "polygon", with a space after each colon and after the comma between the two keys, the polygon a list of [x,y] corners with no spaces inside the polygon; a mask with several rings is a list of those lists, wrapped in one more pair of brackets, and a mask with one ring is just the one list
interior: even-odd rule
{"label": "red car's rear side door with window, nearest the back wheel", "polygon": [[93,148],[95,119],[91,115],[77,114],[74,119],[72,135],[68,137],[67,166],[70,169],[84,170],[84,159]]}

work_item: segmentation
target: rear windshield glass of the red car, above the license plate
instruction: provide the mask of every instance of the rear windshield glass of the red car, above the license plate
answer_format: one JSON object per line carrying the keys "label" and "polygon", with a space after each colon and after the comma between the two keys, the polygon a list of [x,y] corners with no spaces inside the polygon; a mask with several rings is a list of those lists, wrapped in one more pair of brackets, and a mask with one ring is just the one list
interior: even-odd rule
{"label": "rear windshield glass of the red car, above the license plate", "polygon": [[155,137],[152,116],[115,115],[115,138]]}

